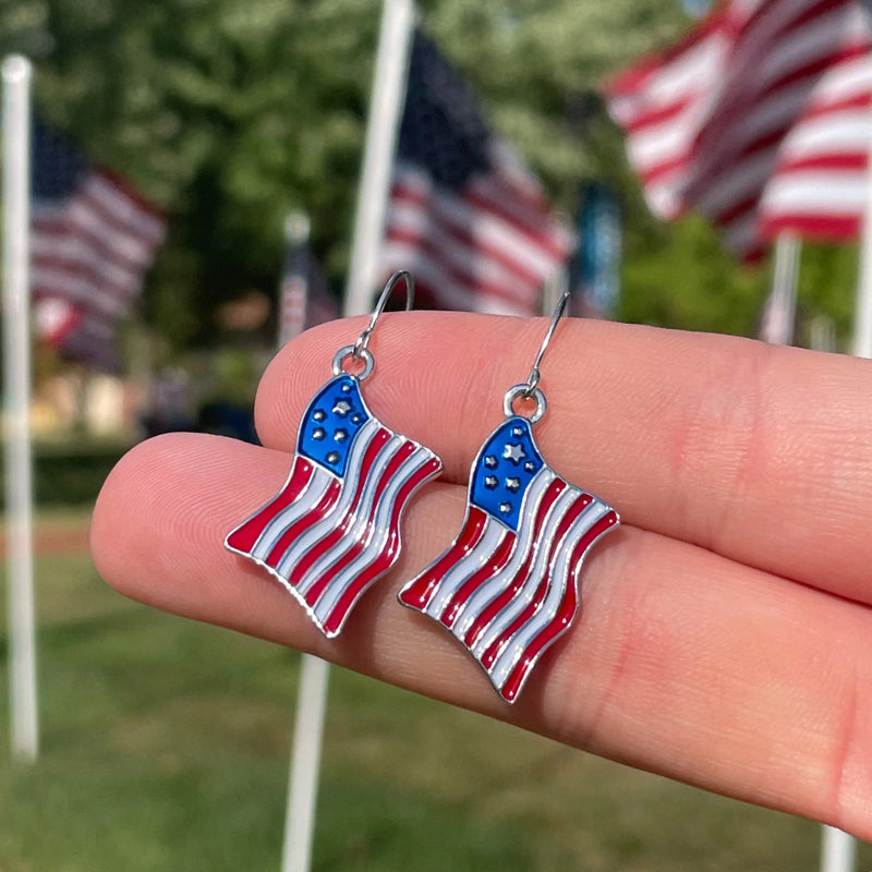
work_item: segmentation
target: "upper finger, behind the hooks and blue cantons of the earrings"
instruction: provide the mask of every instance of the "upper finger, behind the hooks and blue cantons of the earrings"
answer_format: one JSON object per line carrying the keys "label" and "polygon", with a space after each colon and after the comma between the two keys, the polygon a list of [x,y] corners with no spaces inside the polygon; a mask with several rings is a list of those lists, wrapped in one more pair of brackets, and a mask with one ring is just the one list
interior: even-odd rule
{"label": "upper finger, behind the hooks and blue cantons of the earrings", "polygon": [[[264,444],[292,448],[300,415],[361,320],[323,325],[262,380]],[[367,402],[443,459],[449,481],[501,420],[547,320],[386,315]],[[870,362],[726,336],[567,318],[542,364],[546,460],[629,523],[862,602],[872,498]]]}

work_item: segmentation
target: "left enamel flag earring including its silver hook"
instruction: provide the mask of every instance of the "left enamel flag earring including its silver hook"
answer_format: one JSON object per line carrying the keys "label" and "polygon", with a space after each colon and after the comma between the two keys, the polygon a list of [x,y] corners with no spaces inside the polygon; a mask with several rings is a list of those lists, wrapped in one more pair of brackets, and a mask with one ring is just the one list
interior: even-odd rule
{"label": "left enamel flag earring including its silver hook", "polygon": [[[375,361],[367,346],[396,272],[366,329],[336,352],[331,378],[306,409],[291,472],[281,491],[225,540],[231,552],[270,572],[328,638],[342,629],[363,592],[400,553],[400,518],[415,491],[443,468],[428,448],[388,429],[367,409],[361,383]],[[348,373],[348,359],[363,362]]]}

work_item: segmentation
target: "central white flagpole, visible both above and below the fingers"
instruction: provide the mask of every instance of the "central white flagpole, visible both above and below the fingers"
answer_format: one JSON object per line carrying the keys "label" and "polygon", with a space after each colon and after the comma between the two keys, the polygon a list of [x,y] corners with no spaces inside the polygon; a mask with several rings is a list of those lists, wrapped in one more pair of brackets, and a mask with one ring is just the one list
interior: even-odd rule
{"label": "central white flagpole, visible both above and below the fingers", "polygon": [[[405,74],[414,19],[412,0],[385,0],[358,191],[351,266],[342,307],[346,316],[365,314],[372,302],[384,234],[391,164],[405,97]],[[324,661],[303,655],[282,872],[308,872],[312,865],[328,677],[328,666]]]}

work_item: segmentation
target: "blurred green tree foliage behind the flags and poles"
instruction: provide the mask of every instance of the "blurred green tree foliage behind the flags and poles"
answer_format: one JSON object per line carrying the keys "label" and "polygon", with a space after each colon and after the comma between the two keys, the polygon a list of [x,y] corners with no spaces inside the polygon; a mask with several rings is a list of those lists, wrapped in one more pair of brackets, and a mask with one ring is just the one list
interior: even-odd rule
{"label": "blurred green tree foliage behind the flags and poles", "polygon": [[[619,316],[744,332],[765,289],[695,219],[664,227],[643,204],[598,96],[606,76],[688,26],[676,0],[422,0],[422,25],[482,96],[494,126],[571,213],[579,185],[623,197]],[[211,313],[253,288],[275,293],[283,218],[312,217],[336,287],[353,204],[380,0],[0,0],[0,43],[36,66],[46,120],[128,175],[169,217],[145,314],[175,348],[207,340]],[[812,305],[844,326],[826,264]],[[841,284],[841,281],[839,281]]]}

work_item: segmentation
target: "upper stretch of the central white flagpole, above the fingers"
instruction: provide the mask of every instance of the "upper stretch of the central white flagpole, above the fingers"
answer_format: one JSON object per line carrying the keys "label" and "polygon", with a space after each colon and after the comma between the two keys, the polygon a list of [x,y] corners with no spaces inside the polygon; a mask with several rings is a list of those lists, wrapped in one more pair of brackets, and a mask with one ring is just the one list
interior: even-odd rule
{"label": "upper stretch of the central white flagpole, above the fingers", "polygon": [[363,152],[351,267],[342,314],[370,311],[390,193],[390,169],[405,97],[405,75],[415,23],[412,0],[385,0]]}

